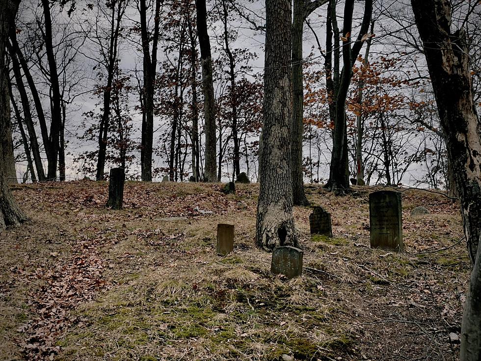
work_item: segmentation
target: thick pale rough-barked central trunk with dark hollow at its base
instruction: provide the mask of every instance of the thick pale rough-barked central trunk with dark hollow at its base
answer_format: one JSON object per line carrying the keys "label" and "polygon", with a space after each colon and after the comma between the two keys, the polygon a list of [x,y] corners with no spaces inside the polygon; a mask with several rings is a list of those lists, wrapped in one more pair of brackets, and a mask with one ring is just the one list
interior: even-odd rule
{"label": "thick pale rough-barked central trunk with dark hollow at its base", "polygon": [[266,0],[264,122],[259,159],[256,242],[297,246],[292,196],[291,1]]}

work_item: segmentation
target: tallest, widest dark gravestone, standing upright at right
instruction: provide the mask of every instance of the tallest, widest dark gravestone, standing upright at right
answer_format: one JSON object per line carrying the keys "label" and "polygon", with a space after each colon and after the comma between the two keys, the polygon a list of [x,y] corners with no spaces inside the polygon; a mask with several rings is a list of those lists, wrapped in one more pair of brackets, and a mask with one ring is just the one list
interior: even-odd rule
{"label": "tallest, widest dark gravestone, standing upright at right", "polygon": [[371,247],[402,250],[401,193],[379,191],[369,194]]}

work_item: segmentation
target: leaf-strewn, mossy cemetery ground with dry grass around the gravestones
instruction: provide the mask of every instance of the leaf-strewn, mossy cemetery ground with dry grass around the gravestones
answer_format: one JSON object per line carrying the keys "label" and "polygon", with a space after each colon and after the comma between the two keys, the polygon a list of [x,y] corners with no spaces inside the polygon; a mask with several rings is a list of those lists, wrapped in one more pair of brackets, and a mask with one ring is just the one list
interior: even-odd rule
{"label": "leaf-strewn, mossy cemetery ground with dry grass around the gravestones", "polygon": [[[254,247],[258,185],[19,185],[31,218],[0,239],[0,360],[457,360],[470,271],[459,206],[403,190],[404,252],[369,247],[369,193],[307,186],[334,238],[295,207],[301,278]],[[430,214],[411,217],[416,206]],[[201,214],[195,208],[213,211]],[[217,223],[235,225],[216,255]]]}

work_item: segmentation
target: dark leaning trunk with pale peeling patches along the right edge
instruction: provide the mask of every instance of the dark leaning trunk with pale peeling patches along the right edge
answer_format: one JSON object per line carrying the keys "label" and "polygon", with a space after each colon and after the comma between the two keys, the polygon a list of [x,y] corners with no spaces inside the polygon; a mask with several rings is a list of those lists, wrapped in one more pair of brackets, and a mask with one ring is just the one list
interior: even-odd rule
{"label": "dark leaning trunk with pale peeling patches along the right edge", "polygon": [[474,268],[464,304],[461,361],[481,360],[481,126],[472,94],[467,37],[451,30],[449,0],[411,0],[453,168]]}

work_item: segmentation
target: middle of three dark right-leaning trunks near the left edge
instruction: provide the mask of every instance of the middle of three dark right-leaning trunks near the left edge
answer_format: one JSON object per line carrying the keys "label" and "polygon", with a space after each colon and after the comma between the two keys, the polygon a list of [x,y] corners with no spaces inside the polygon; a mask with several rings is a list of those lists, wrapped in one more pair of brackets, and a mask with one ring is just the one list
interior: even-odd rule
{"label": "middle of three dark right-leaning trunks near the left edge", "polygon": [[[10,59],[12,60],[13,74],[15,76],[15,82],[17,83],[17,89],[20,94],[20,101],[22,103],[22,108],[24,111],[24,119],[27,126],[30,148],[33,154],[33,161],[35,162],[35,169],[37,170],[38,180],[43,181],[45,180],[45,172],[43,169],[42,158],[40,156],[40,147],[38,145],[37,134],[32,120],[32,113],[30,110],[30,102],[28,101],[27,90],[25,89],[22,74],[20,72],[20,64],[18,62],[17,55],[13,49],[13,46],[9,46],[9,43],[7,42],[7,47],[10,54]],[[11,84],[9,84],[9,86],[11,86]],[[35,173],[31,174],[34,175]]]}

